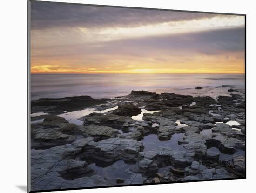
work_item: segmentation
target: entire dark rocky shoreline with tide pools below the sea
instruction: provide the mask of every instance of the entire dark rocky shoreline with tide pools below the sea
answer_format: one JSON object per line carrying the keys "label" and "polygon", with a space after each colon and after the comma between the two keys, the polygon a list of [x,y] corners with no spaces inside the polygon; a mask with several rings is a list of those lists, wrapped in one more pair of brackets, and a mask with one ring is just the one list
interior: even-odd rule
{"label": "entire dark rocky shoreline with tide pools below the sea", "polygon": [[[32,190],[244,178],[244,90],[229,92],[34,100]],[[81,124],[57,116],[85,108]]]}

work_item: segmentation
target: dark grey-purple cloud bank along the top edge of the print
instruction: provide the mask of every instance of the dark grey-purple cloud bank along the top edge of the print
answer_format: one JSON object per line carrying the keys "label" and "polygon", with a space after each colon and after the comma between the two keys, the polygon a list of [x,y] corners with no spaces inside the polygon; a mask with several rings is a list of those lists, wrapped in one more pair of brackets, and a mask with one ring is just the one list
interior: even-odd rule
{"label": "dark grey-purple cloud bank along the top edge of the print", "polygon": [[[215,14],[82,6],[31,1],[32,29],[52,27],[122,27],[211,18]],[[227,16],[227,15],[225,15]]]}

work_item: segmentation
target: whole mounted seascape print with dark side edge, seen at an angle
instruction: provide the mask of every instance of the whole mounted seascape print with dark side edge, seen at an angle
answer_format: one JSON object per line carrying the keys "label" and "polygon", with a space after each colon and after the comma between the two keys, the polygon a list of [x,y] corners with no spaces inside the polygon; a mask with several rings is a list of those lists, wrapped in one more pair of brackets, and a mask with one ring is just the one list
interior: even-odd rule
{"label": "whole mounted seascape print with dark side edge, seen at an angle", "polygon": [[28,192],[246,178],[246,15],[27,5]]}

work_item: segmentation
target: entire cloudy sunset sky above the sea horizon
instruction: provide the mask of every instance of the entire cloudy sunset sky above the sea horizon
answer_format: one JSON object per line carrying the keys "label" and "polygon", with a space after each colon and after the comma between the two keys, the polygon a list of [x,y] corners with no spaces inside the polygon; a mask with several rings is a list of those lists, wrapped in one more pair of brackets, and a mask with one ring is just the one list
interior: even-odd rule
{"label": "entire cloudy sunset sky above the sea horizon", "polygon": [[244,73],[244,16],[31,1],[31,73]]}

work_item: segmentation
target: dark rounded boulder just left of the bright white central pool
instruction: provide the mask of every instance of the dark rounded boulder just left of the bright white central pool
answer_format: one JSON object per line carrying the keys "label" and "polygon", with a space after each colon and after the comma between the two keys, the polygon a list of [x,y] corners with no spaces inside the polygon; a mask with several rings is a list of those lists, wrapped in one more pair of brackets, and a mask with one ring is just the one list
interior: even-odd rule
{"label": "dark rounded boulder just left of the bright white central pool", "polygon": [[121,116],[136,116],[141,113],[141,109],[134,105],[120,105],[118,109],[115,109],[112,114]]}

